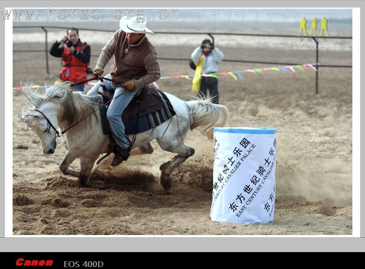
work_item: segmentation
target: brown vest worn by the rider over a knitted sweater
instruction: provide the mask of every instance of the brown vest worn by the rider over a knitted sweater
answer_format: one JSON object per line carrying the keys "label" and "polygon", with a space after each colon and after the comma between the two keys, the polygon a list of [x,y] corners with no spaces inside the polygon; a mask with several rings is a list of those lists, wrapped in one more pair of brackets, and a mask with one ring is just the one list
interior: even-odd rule
{"label": "brown vest worn by the rider over a knitted sweater", "polygon": [[[128,53],[126,52],[128,49]],[[116,40],[116,48],[114,50],[114,58],[110,67],[110,74],[113,86],[121,87],[121,84],[133,80],[140,79],[147,74],[143,65],[147,55],[156,49],[149,42],[147,37],[137,47],[131,47],[126,39],[126,33],[121,31]]]}

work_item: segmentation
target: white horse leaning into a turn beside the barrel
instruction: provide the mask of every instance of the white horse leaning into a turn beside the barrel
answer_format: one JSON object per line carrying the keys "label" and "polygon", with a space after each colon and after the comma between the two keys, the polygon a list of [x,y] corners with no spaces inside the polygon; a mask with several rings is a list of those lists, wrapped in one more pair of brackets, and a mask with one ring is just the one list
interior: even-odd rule
{"label": "white horse leaning into a turn beside the barrel", "polygon": [[[96,97],[73,92],[70,84],[64,82],[51,86],[44,95],[33,92],[30,85],[23,87],[23,93],[29,102],[21,107],[18,115],[38,135],[43,152],[52,154],[58,136],[55,127],[58,126],[61,133],[91,114],[61,136],[67,151],[59,168],[63,174],[78,177],[80,185],[85,186],[95,161],[101,153],[108,152],[109,137],[102,132],[99,111],[93,113],[100,107],[96,103]],[[171,186],[171,171],[194,155],[194,149],[183,143],[189,129],[199,127],[200,133],[212,140],[213,127],[224,126],[228,110],[225,106],[213,104],[209,100],[185,102],[171,94],[165,94],[176,115],[154,129],[137,134],[133,149],[138,147],[139,154],[152,153],[153,148],[149,142],[156,139],[164,151],[178,154],[160,167],[160,184],[167,190]],[[80,159],[80,171],[69,168],[76,158]]]}

